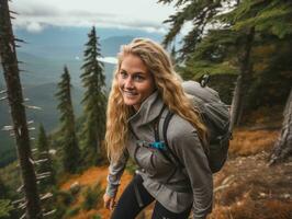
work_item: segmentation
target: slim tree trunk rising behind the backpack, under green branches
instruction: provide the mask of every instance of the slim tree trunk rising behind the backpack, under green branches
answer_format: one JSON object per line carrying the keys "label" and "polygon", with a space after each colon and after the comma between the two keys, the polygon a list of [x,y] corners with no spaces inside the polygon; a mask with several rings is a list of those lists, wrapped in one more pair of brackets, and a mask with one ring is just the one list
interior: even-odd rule
{"label": "slim tree trunk rising behind the backpack, under green branches", "polygon": [[248,35],[245,38],[245,50],[239,56],[239,76],[237,77],[234,96],[231,107],[231,129],[233,130],[235,125],[238,125],[244,113],[244,96],[247,90],[247,79],[250,71],[250,50],[252,47],[252,42],[255,37],[255,28],[250,28]]}

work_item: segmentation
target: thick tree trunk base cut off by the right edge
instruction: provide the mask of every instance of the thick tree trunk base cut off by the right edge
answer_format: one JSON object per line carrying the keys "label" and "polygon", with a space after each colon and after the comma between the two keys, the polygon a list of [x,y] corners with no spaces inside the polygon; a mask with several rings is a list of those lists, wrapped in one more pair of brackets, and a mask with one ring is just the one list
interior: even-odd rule
{"label": "thick tree trunk base cut off by the right edge", "polygon": [[274,145],[270,155],[269,164],[284,161],[292,154],[292,89],[283,112],[284,120],[281,135]]}

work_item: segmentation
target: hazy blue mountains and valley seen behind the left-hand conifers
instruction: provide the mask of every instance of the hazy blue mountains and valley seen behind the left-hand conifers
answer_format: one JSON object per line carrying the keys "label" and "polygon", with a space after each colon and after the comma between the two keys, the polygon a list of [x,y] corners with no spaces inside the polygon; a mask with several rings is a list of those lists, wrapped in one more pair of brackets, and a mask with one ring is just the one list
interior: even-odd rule
{"label": "hazy blue mountains and valley seen behind the left-hand conifers", "polygon": [[[58,125],[57,101],[54,96],[56,85],[60,80],[64,66],[67,65],[72,84],[72,102],[77,116],[81,115],[82,84],[80,82],[81,66],[87,33],[90,28],[59,28],[48,27],[42,33],[33,34],[23,30],[15,30],[19,38],[29,44],[18,48],[18,59],[23,61],[19,67],[25,70],[20,73],[24,97],[30,99],[25,104],[42,107],[42,111],[26,110],[27,119],[33,119],[37,126],[43,123],[46,130],[50,131]],[[130,43],[134,37],[149,37],[160,41],[161,35],[134,30],[97,28],[100,37],[101,55],[116,57],[121,45]],[[115,65],[104,64],[105,83],[110,88]],[[0,90],[4,89],[2,66],[0,66]],[[1,95],[2,96],[2,95]],[[11,125],[7,101],[0,102],[0,129]],[[37,127],[36,127],[37,128]],[[36,134],[36,132],[34,132]],[[32,134],[32,136],[35,136]],[[0,166],[11,159],[15,159],[13,139],[7,131],[0,131]]]}

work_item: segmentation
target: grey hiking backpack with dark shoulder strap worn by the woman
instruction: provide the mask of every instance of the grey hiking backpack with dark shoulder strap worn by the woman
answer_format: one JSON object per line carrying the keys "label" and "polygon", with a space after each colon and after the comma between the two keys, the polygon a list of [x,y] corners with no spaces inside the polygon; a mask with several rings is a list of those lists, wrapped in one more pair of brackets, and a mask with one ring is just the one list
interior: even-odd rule
{"label": "grey hiking backpack with dark shoulder strap worn by the woman", "polygon": [[[227,160],[227,152],[229,148],[229,140],[232,139],[232,131],[229,129],[231,116],[228,107],[224,104],[216,91],[194,81],[182,82],[184,92],[189,95],[192,103],[200,111],[202,119],[209,130],[209,146],[205,150],[210,169],[212,173],[218,172]],[[164,148],[160,150],[171,162],[184,168],[179,158],[168,147],[167,128],[173,113],[168,112],[162,123],[162,138]],[[160,116],[158,116],[160,117]],[[160,119],[160,118],[159,118]],[[156,145],[159,141],[158,127],[155,128]],[[159,146],[153,147],[158,148]],[[172,157],[171,159],[169,158]]]}

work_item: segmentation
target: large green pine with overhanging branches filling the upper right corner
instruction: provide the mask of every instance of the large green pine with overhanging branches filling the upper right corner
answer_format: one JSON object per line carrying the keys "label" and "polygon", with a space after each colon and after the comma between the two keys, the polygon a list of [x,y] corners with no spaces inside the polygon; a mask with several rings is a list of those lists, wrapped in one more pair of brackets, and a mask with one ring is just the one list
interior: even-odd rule
{"label": "large green pine with overhanging branches filling the upper right corner", "polygon": [[[159,2],[173,1],[160,0]],[[182,68],[183,77],[199,79],[205,72],[213,76],[238,74],[232,104],[232,126],[238,125],[247,107],[246,100],[251,95],[252,48],[255,45],[262,44],[262,37],[267,35],[279,38],[291,37],[292,2],[285,0],[234,1],[231,10],[226,13],[223,13],[226,11],[223,10],[221,15],[217,10],[226,9],[227,1],[212,1],[209,5],[206,4],[210,1],[205,0],[177,0],[176,2],[180,10],[166,21],[171,24],[171,27],[165,37],[165,44],[173,39],[186,22],[193,22],[193,28],[184,37],[181,49],[182,56],[187,57],[186,68]],[[217,24],[213,26],[214,30],[209,25],[212,22]]]}

